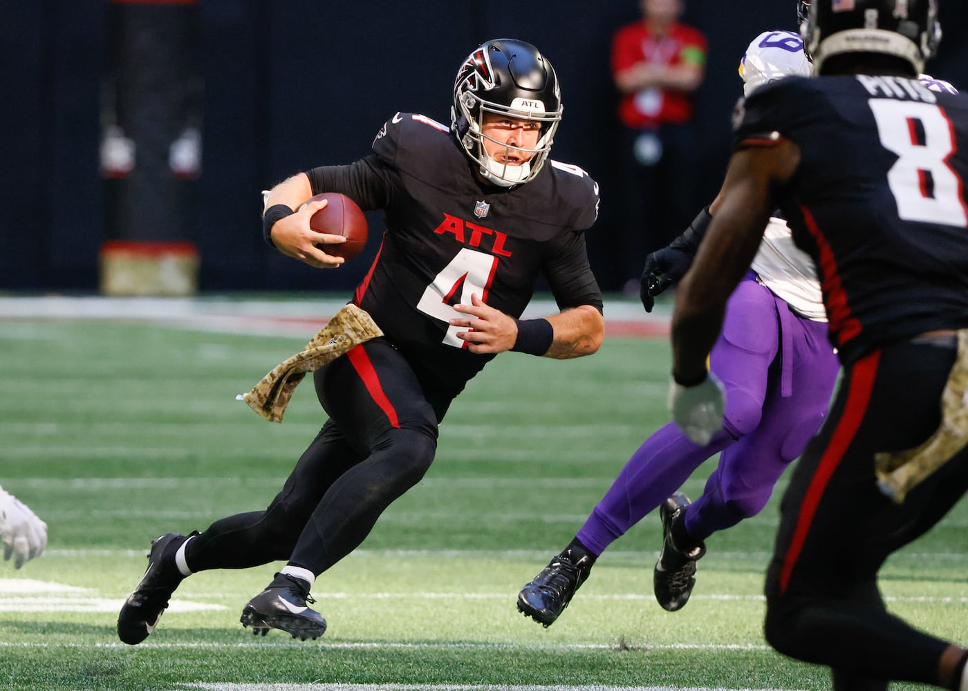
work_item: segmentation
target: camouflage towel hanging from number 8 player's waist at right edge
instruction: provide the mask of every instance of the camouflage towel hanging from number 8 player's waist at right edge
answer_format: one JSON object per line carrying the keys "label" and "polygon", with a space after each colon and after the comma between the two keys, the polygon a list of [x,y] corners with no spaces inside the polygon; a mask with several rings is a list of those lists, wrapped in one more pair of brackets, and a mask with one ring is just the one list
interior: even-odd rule
{"label": "camouflage towel hanging from number 8 player's waist at right edge", "polygon": [[968,329],[958,331],[958,356],[941,396],[941,427],[921,445],[874,455],[877,485],[897,503],[968,445]]}

